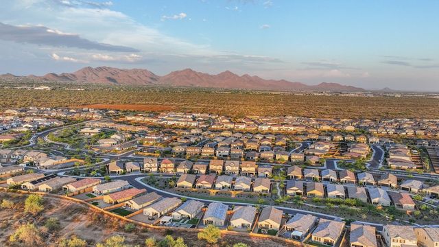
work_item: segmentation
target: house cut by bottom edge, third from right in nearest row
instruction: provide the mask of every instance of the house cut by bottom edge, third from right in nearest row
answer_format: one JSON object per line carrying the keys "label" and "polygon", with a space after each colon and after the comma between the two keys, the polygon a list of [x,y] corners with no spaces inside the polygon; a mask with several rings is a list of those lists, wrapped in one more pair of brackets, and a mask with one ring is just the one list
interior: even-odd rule
{"label": "house cut by bottom edge, third from right in nearest row", "polygon": [[374,226],[351,223],[349,241],[351,247],[377,247],[377,234]]}

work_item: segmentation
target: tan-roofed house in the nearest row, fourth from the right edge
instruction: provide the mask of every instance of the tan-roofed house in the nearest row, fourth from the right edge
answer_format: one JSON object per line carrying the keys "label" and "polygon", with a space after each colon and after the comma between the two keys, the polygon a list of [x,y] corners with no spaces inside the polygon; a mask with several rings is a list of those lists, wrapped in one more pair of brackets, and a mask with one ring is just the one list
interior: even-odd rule
{"label": "tan-roofed house in the nearest row, fourth from the right edge", "polygon": [[311,240],[328,246],[335,246],[344,229],[344,222],[320,219],[316,229],[311,234]]}

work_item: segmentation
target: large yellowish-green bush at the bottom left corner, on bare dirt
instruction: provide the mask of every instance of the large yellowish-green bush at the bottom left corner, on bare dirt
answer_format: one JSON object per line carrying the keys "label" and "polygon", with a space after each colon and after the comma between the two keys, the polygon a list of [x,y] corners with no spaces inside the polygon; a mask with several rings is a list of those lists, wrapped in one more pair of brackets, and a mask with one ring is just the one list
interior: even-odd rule
{"label": "large yellowish-green bush at the bottom left corner, on bare dirt", "polygon": [[19,243],[23,246],[41,246],[43,244],[43,237],[40,231],[34,224],[23,224],[15,233],[9,237],[12,243]]}

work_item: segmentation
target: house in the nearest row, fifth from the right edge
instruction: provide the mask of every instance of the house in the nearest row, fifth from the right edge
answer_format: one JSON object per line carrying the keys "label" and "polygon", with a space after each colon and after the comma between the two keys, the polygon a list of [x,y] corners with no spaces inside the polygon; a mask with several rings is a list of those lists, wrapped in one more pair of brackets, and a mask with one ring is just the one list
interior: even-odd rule
{"label": "house in the nearest row, fifth from the right edge", "polygon": [[291,238],[296,240],[304,239],[311,228],[316,225],[317,217],[314,215],[305,215],[296,213],[294,217],[289,219],[283,226],[285,231],[291,232]]}

